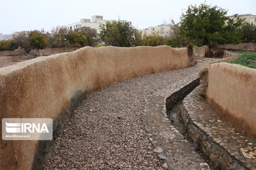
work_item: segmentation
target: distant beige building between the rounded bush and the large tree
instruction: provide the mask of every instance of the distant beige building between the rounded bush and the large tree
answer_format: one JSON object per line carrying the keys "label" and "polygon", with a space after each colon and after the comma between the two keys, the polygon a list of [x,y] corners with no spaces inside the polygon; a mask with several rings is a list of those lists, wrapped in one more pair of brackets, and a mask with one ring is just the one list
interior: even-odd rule
{"label": "distant beige building between the rounded bush and the large tree", "polygon": [[168,37],[171,35],[171,26],[164,25],[164,24],[160,25],[160,26],[152,26],[152,27],[142,30],[142,35],[144,35],[144,34],[146,34],[146,35],[158,34],[163,37]]}

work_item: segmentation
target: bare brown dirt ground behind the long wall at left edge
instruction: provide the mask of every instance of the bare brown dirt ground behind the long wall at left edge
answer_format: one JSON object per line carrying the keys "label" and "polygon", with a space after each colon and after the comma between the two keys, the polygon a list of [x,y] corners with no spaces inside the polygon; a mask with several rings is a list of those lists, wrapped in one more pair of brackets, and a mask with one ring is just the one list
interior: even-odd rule
{"label": "bare brown dirt ground behind the long wall at left edge", "polygon": [[31,60],[35,56],[31,55],[15,55],[15,56],[0,56],[0,67],[6,67],[17,62],[23,62],[26,60]]}

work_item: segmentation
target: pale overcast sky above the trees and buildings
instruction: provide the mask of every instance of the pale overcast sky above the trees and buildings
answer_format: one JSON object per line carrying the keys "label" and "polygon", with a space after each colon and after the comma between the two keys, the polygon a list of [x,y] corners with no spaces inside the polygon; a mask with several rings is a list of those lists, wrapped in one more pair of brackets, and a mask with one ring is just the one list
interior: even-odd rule
{"label": "pale overcast sky above the trees and buildings", "polygon": [[[0,33],[50,30],[93,15],[110,20],[119,17],[142,29],[171,19],[178,22],[188,5],[202,2],[204,0],[0,0]],[[255,0],[207,0],[206,3],[228,9],[228,15],[256,14]]]}

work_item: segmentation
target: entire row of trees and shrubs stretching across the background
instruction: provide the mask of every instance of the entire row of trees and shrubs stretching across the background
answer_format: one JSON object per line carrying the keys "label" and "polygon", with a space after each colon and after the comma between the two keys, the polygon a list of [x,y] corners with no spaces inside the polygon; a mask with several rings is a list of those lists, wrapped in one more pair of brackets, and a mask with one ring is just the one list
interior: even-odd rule
{"label": "entire row of trees and shrubs stretching across the background", "polygon": [[100,34],[89,27],[70,30],[56,27],[50,33],[44,30],[31,30],[15,33],[12,40],[1,40],[0,50],[14,50],[21,46],[26,52],[46,47],[100,47],[112,45],[117,47],[170,45],[185,47],[187,45],[214,45],[215,43],[238,44],[256,42],[256,26],[246,23],[242,18],[227,17],[227,10],[219,6],[201,4],[188,6],[181,15],[181,22],[171,21],[169,36],[143,35],[129,23],[114,21],[100,26]]}

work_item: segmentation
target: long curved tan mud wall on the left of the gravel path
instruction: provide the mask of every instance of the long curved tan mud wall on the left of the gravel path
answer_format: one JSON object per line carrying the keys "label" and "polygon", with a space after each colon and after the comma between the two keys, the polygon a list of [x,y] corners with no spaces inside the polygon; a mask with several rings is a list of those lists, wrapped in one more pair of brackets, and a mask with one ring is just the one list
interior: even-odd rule
{"label": "long curved tan mud wall on the left of the gravel path", "polygon": [[[53,118],[57,132],[85,94],[132,77],[188,67],[190,61],[186,48],[159,46],[83,47],[19,62],[0,68],[0,118]],[[48,144],[1,140],[0,148],[0,169],[38,169]]]}

